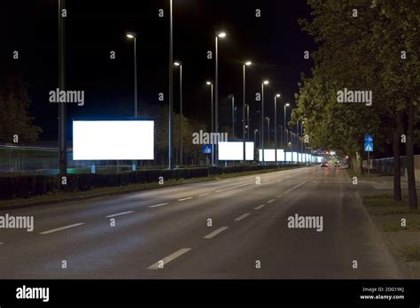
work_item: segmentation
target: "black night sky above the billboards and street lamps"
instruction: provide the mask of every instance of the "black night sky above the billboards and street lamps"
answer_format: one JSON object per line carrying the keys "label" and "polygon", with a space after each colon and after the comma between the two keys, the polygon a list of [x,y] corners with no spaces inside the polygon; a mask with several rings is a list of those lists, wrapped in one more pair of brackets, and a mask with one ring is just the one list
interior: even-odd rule
{"label": "black night sky above the billboards and street lamps", "polygon": [[[158,104],[159,92],[168,90],[169,0],[67,0],[67,89],[84,90],[85,105],[67,108],[72,118],[131,117],[133,115],[133,42],[125,37],[136,31],[138,101]],[[165,10],[159,18],[158,10]],[[261,18],[255,10],[261,9]],[[43,127],[43,140],[57,138],[57,104],[48,92],[58,87],[58,0],[2,1],[0,64],[21,73],[30,85],[31,113]],[[220,126],[229,125],[229,94],[242,104],[242,62],[247,68],[246,96],[251,104],[252,129],[255,92],[268,79],[265,109],[274,111],[273,96],[294,104],[300,72],[310,73],[312,62],[304,50],[314,50],[313,40],[301,32],[298,19],[309,14],[305,0],[174,0],[174,58],[183,61],[184,114],[209,122],[207,79],[214,79],[214,33],[228,36],[219,47]],[[3,16],[4,15],[4,16]],[[5,36],[4,36],[5,35]],[[19,61],[12,51],[19,50]],[[115,50],[116,59],[109,58]],[[175,111],[178,110],[178,70],[175,69]],[[279,108],[278,119],[283,119]],[[237,123],[238,125],[239,123]]]}

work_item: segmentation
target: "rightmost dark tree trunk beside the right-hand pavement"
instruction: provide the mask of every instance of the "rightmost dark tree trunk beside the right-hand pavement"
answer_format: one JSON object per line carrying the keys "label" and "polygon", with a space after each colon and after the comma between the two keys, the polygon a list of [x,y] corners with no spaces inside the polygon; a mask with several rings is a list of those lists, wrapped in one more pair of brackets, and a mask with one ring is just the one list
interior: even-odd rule
{"label": "rightmost dark tree trunk beside the right-hand pavement", "polygon": [[408,128],[406,140],[407,154],[407,177],[408,177],[408,206],[410,209],[417,209],[416,178],[414,173],[414,150],[413,150],[413,126],[414,111],[413,104],[408,104]]}

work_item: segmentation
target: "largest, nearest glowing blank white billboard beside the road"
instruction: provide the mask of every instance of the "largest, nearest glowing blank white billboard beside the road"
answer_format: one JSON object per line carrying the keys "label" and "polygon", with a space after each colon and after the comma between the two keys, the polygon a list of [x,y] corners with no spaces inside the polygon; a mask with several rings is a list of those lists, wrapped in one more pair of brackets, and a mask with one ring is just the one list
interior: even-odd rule
{"label": "largest, nearest glowing blank white billboard beside the road", "polygon": [[154,121],[74,120],[74,160],[152,160]]}

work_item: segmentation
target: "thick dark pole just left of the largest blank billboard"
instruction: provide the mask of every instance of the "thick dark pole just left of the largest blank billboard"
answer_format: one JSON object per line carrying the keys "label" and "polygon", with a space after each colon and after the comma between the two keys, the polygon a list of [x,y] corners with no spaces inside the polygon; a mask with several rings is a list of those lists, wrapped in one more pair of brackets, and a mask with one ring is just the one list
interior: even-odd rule
{"label": "thick dark pole just left of the largest blank billboard", "polygon": [[[66,8],[65,0],[58,0],[58,86],[60,90],[66,90],[66,17],[62,10]],[[61,178],[67,175],[67,142],[66,142],[66,103],[58,105],[58,159],[59,174]]]}

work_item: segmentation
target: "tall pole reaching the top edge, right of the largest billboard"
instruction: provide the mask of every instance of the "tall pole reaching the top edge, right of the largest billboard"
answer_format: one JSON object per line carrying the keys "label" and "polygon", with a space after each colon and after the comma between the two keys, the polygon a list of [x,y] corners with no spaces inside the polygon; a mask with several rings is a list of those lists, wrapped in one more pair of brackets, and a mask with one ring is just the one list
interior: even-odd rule
{"label": "tall pole reaching the top edge, right of the largest billboard", "polygon": [[169,119],[168,119],[168,140],[167,140],[167,167],[172,169],[172,141],[174,135],[174,44],[173,44],[173,19],[172,19],[172,0],[169,0],[170,3],[170,18],[169,18]]}

